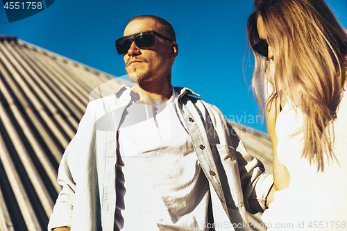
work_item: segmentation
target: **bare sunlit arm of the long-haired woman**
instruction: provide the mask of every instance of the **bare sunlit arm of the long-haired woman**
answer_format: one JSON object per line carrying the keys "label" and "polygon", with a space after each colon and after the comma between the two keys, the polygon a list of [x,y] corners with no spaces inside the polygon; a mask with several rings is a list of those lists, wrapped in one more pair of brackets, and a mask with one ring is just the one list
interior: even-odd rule
{"label": "bare sunlit arm of the long-haired woman", "polygon": [[289,186],[290,181],[290,176],[287,168],[280,163],[280,160],[278,160],[277,156],[278,138],[276,135],[276,120],[278,114],[280,113],[280,103],[283,108],[285,103],[280,101],[280,97],[276,97],[274,99],[271,99],[266,105],[266,127],[272,143],[273,182],[275,184],[276,191],[286,189]]}

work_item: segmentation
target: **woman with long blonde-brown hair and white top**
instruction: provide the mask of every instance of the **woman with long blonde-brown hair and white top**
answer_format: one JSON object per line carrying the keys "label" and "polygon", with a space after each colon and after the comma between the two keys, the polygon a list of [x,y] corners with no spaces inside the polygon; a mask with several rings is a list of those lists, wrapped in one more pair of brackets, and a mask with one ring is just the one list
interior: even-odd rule
{"label": "woman with long blonde-brown hair and white top", "polygon": [[323,0],[254,7],[253,89],[266,109],[276,189],[262,219],[269,230],[347,230],[347,34]]}

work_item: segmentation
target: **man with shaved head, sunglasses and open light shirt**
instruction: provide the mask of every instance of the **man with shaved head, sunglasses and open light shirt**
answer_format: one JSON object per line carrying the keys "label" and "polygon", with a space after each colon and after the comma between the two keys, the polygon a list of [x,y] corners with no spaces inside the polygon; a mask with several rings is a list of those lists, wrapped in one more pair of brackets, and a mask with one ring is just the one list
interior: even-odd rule
{"label": "man with shaved head, sunglasses and open light shirt", "polygon": [[87,106],[49,230],[244,230],[245,209],[266,208],[272,177],[217,108],[171,86],[172,26],[135,17],[116,46],[134,87]]}

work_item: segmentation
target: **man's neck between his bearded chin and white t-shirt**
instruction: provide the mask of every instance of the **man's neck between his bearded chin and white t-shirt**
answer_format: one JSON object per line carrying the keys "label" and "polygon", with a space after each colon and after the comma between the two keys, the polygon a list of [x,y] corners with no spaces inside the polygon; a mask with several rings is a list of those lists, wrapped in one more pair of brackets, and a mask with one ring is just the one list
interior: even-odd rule
{"label": "man's neck between his bearded chin and white t-shirt", "polygon": [[171,85],[156,85],[155,83],[134,84],[131,98],[135,103],[160,105],[171,98]]}

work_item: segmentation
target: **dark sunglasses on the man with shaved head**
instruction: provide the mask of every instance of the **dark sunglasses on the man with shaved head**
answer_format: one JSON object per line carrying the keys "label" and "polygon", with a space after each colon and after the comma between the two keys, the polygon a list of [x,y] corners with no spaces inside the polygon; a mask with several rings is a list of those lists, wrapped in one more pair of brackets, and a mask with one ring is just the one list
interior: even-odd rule
{"label": "dark sunglasses on the man with shaved head", "polygon": [[171,40],[171,38],[166,37],[158,32],[155,31],[141,31],[139,33],[135,33],[133,35],[128,35],[119,38],[116,40],[116,49],[119,55],[124,55],[128,53],[128,50],[130,49],[132,41],[135,42],[136,46],[139,49],[150,47],[154,45],[155,36],[161,37],[164,40],[169,40],[170,42],[174,42],[174,40]]}

